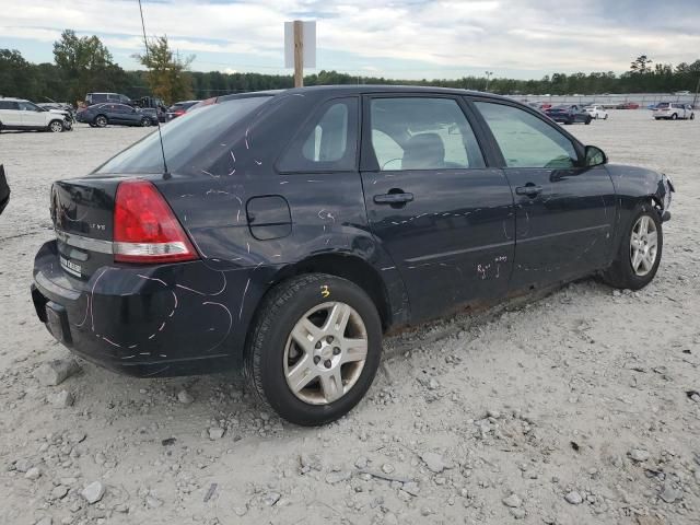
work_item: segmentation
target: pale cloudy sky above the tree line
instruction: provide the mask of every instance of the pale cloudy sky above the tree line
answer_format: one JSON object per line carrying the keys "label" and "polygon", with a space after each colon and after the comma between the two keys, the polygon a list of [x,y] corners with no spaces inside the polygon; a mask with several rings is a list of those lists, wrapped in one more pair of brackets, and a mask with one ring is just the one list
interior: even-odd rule
{"label": "pale cloudy sky above the tree line", "polygon": [[[285,72],[283,23],[317,21],[317,68],[390,78],[540,78],[623,72],[700,57],[699,0],[162,0],[144,1],[147,33],[167,34],[199,71]],[[136,0],[0,0],[0,48],[52,61],[63,28],[96,34],[136,69]],[[313,72],[314,70],[306,70]]]}

